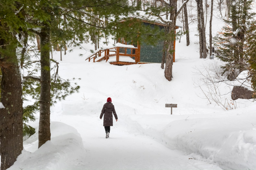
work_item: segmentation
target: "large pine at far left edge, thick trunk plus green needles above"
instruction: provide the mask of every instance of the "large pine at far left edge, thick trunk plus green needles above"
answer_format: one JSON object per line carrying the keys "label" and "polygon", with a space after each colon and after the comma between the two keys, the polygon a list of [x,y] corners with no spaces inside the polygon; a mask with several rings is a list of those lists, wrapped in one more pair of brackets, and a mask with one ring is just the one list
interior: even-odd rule
{"label": "large pine at far left edge, thick trunk plus green needles above", "polygon": [[9,168],[22,151],[22,91],[20,52],[28,23],[23,12],[26,7],[19,1],[0,3],[0,68],[2,72],[0,108],[1,170]]}

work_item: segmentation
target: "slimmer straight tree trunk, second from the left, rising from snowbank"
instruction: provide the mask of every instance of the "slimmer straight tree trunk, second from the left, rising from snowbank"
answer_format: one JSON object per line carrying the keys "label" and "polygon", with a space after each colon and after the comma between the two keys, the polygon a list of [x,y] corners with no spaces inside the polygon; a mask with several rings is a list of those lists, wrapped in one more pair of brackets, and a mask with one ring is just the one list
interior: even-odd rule
{"label": "slimmer straight tree trunk, second from the left, rising from snowbank", "polygon": [[[50,21],[49,21],[50,22]],[[50,104],[51,104],[51,74],[50,74],[50,26],[45,24],[40,33],[41,39],[41,92],[38,147],[51,140]]]}

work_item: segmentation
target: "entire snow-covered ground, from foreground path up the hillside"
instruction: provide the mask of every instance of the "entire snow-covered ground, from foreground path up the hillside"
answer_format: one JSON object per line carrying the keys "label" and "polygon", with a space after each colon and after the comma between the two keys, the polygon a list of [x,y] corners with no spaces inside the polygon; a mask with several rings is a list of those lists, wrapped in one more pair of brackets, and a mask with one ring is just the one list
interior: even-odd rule
{"label": "entire snow-covered ground, from foreground path up the hillside", "polygon": [[[216,18],[214,33],[222,26]],[[79,48],[63,61],[55,53],[61,77],[81,78],[79,93],[51,108],[52,140],[37,149],[38,133],[32,135],[8,170],[256,169],[255,102],[232,101],[232,87],[220,83],[217,95],[228,111],[209,103],[201,80],[221,62],[199,59],[196,24],[190,31],[189,46],[185,36],[176,43],[170,82],[160,64],[88,63],[89,52]],[[118,121],[106,139],[99,115],[108,97]],[[178,105],[172,115],[166,103]],[[30,125],[38,129],[38,120]]]}

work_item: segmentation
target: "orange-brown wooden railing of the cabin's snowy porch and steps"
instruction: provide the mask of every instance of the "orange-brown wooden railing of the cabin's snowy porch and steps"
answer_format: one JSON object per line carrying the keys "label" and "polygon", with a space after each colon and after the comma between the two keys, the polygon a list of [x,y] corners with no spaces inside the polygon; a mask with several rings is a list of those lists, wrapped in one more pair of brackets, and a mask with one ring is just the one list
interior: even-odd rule
{"label": "orange-brown wooden railing of the cabin's snowy porch and steps", "polygon": [[[124,48],[124,53],[120,53],[120,49]],[[127,54],[127,49],[131,49],[131,54]],[[135,49],[135,54],[133,54],[133,49]],[[104,52],[104,56],[101,57],[102,53]],[[110,52],[115,52],[114,54],[110,54]],[[109,57],[111,56],[116,56],[116,62],[119,62],[119,56],[129,56],[129,57],[135,57],[135,63],[140,61],[140,52],[137,47],[111,47],[107,49],[102,49],[97,51],[96,53],[90,55],[86,60],[90,62],[91,59],[93,59],[93,62],[96,62],[96,59],[98,57],[101,57],[100,59],[97,60],[97,62],[100,62],[102,60],[108,61]]]}

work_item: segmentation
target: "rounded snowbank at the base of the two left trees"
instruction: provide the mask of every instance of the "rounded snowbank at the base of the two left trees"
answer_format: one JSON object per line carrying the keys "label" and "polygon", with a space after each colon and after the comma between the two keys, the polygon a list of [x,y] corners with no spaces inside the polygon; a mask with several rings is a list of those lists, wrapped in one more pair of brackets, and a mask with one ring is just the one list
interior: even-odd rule
{"label": "rounded snowbank at the base of the two left trees", "polygon": [[76,129],[61,122],[51,122],[51,141],[39,149],[38,132],[24,142],[22,154],[8,170],[71,170],[76,169],[77,158],[86,152]]}

